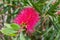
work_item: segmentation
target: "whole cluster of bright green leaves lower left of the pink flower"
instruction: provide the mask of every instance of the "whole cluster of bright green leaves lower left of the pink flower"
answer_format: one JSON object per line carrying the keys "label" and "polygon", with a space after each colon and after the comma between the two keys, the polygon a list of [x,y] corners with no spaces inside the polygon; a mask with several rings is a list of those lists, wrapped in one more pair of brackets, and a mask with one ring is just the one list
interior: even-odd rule
{"label": "whole cluster of bright green leaves lower left of the pink flower", "polygon": [[8,24],[8,23],[4,23],[5,27],[2,28],[0,31],[5,34],[5,35],[9,35],[9,36],[16,36],[16,32],[17,30],[20,29],[20,26],[12,23],[12,24]]}

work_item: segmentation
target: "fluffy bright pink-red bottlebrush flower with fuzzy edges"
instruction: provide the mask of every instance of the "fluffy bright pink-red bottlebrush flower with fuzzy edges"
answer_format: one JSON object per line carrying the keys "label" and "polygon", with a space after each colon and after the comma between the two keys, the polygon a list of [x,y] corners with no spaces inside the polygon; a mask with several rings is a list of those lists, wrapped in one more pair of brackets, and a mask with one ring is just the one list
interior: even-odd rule
{"label": "fluffy bright pink-red bottlebrush flower with fuzzy edges", "polygon": [[25,27],[27,32],[34,32],[35,25],[39,22],[39,13],[33,7],[25,7],[14,19],[14,23]]}

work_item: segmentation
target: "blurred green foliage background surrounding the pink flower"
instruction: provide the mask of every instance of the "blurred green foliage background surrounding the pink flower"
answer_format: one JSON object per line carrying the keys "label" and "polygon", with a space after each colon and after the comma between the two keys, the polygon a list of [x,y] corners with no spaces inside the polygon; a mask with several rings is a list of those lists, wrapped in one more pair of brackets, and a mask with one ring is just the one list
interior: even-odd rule
{"label": "blurred green foliage background surrounding the pink flower", "polygon": [[[53,1],[54,0],[2,0],[2,3],[0,3],[0,19],[2,22],[0,24],[4,30],[2,30],[3,34],[0,32],[0,34],[2,34],[0,40],[60,40],[60,15],[56,15],[56,12],[60,10],[60,0],[57,0],[54,4]],[[32,6],[40,13],[41,21],[36,27],[36,32],[33,33],[32,36],[25,36],[23,33],[15,37],[8,35],[8,33],[16,35],[14,33],[19,29],[19,26],[12,24],[12,20],[25,6]],[[4,23],[7,24],[4,25]],[[6,28],[4,28],[5,26]]]}

